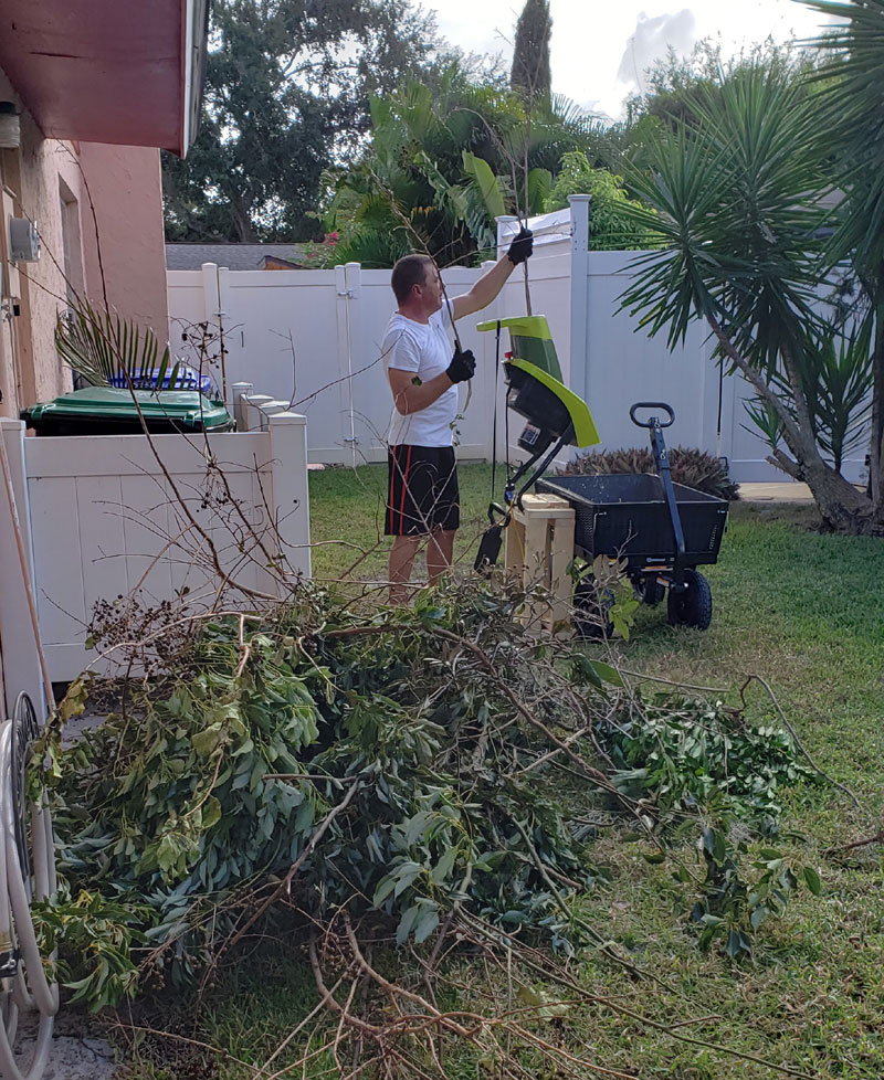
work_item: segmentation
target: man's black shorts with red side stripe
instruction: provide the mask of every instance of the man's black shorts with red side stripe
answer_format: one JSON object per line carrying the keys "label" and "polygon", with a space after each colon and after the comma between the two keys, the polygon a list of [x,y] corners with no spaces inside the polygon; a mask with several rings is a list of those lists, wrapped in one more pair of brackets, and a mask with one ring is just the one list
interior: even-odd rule
{"label": "man's black shorts with red side stripe", "polygon": [[388,537],[419,537],[461,523],[453,446],[391,446],[387,454]]}

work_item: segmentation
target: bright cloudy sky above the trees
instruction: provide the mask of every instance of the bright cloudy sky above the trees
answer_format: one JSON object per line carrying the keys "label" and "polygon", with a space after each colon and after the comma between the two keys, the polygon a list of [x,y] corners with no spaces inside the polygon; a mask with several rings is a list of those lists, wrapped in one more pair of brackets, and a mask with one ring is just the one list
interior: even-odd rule
{"label": "bright cloudy sky above the trees", "polygon": [[[439,29],[464,52],[501,53],[507,70],[523,0],[421,0]],[[791,36],[812,38],[824,17],[797,0],[550,0],[552,89],[583,108],[621,115],[623,100],[645,89],[644,72],[667,45],[690,55],[695,42],[714,38],[722,55]]]}

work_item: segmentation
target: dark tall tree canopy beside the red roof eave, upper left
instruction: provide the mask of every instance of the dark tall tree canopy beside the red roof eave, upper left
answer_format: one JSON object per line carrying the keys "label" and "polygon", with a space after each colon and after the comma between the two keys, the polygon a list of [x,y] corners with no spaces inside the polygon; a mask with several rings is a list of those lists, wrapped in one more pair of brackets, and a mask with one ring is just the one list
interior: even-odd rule
{"label": "dark tall tree canopy beside the red roof eave, upper left", "polygon": [[164,155],[170,240],[309,240],[322,177],[369,127],[369,97],[444,63],[410,0],[215,0],[199,135]]}

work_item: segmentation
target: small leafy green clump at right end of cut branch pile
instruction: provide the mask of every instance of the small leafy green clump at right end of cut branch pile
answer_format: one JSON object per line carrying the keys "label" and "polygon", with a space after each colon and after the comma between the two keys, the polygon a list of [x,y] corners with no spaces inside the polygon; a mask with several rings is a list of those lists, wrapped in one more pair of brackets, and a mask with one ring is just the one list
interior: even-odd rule
{"label": "small leafy green clump at right end of cut branch pile", "polygon": [[[759,928],[768,915],[782,914],[799,879],[819,896],[812,867],[796,867],[780,851],[754,846],[778,833],[781,788],[810,776],[787,732],[750,724],[720,702],[678,703],[659,695],[638,712],[612,718],[599,738],[620,766],[614,784],[644,798],[673,851],[692,829],[683,814],[705,819],[697,848],[706,872],[690,914],[702,949],[722,942],[733,960],[751,956]],[[646,858],[664,862],[666,855]],[[692,881],[683,864],[674,877]]]}

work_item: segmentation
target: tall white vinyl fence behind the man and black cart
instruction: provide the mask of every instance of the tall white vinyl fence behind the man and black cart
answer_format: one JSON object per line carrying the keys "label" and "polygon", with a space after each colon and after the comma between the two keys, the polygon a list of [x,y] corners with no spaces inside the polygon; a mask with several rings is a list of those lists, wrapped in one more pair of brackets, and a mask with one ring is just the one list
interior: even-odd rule
{"label": "tall white vinyl fence behind the man and black cart", "polygon": [[[751,393],[739,375],[719,379],[704,326],[692,326],[674,352],[662,335],[652,340],[636,332],[636,320],[619,310],[618,297],[640,253],[589,252],[589,197],[572,195],[570,202],[570,210],[530,223],[536,236],[528,263],[532,306],[549,320],[565,382],[588,401],[602,446],[645,445],[646,433],[632,425],[629,406],[663,400],[676,414],[667,433],[671,445],[727,457],[738,481],[787,479],[765,460],[765,443],[746,430],[751,425],[744,400]],[[501,251],[516,229],[513,219],[498,221]],[[481,273],[453,267],[443,279],[450,295],[457,296]],[[380,341],[394,307],[389,280],[389,271],[367,271],[357,263],[329,271],[231,272],[211,263],[201,271],[170,271],[172,343],[181,342],[181,329],[189,324],[223,327],[228,383],[260,387],[303,412],[311,462],[381,460],[391,409],[380,361]],[[457,324],[464,346],[478,360],[469,405],[465,390],[461,393],[462,459],[487,459],[492,452],[494,333],[477,333],[475,325],[525,311],[517,268],[493,305]],[[499,428],[498,454],[504,451],[502,421]],[[520,419],[511,417],[511,443],[520,428]],[[862,457],[857,452],[845,463],[851,479],[860,479]]]}

